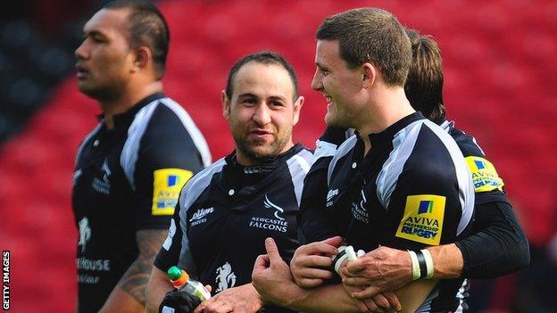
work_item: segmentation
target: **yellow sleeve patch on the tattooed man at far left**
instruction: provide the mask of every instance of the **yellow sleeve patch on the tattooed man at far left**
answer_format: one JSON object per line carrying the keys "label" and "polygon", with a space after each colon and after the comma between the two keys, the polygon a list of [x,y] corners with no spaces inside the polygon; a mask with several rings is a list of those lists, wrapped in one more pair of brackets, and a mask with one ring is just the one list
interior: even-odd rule
{"label": "yellow sleeve patch on the tattooed man at far left", "polygon": [[153,172],[153,215],[172,215],[179,192],[194,173],[185,169],[157,169]]}

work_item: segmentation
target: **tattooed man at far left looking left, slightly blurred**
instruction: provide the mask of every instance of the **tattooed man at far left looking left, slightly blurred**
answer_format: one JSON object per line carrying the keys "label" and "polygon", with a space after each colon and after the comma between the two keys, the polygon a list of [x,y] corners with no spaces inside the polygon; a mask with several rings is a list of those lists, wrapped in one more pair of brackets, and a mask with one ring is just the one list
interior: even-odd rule
{"label": "tattooed man at far left looking left, slightly blurred", "polygon": [[75,51],[81,93],[103,111],[73,175],[79,312],[145,311],[145,285],[179,190],[211,162],[204,137],[162,94],[169,29],[153,4],[116,1]]}

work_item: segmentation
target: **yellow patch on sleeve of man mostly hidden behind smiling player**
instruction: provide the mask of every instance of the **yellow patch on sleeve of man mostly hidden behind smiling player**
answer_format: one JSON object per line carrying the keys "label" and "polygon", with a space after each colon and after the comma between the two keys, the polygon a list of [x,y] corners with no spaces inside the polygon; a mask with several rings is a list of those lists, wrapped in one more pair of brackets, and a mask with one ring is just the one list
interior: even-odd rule
{"label": "yellow patch on sleeve of man mostly hidden behind smiling player", "polygon": [[476,193],[483,193],[499,189],[503,192],[503,179],[497,175],[497,171],[490,161],[484,158],[470,156],[464,158],[470,173]]}

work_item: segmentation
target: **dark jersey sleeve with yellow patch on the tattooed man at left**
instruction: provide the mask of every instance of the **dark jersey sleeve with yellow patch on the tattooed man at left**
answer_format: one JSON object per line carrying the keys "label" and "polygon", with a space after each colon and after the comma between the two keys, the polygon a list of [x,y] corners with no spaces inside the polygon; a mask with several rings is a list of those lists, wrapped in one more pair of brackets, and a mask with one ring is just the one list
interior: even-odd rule
{"label": "dark jersey sleeve with yellow patch on the tattooed man at left", "polygon": [[203,168],[187,128],[159,105],[141,139],[134,172],[137,230],[169,227],[182,186]]}

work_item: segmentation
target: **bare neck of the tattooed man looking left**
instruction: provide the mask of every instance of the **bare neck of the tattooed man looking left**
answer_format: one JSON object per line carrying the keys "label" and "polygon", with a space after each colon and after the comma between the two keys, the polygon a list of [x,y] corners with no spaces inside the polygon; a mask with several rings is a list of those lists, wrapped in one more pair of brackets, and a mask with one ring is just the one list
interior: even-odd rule
{"label": "bare neck of the tattooed man looking left", "polygon": [[142,85],[126,86],[126,90],[118,97],[99,101],[106,128],[114,128],[114,115],[128,111],[147,96],[160,92],[162,92],[162,81],[156,80]]}

